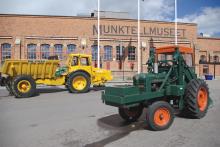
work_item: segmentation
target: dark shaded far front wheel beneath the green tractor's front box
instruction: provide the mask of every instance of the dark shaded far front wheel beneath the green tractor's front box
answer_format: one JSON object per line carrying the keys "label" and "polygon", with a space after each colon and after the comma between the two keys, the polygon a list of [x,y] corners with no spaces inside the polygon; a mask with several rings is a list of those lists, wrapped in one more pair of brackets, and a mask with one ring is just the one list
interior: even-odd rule
{"label": "dark shaded far front wheel beneath the green tractor's front box", "polygon": [[135,122],[142,115],[143,107],[139,105],[130,108],[119,108],[118,112],[121,118],[123,118],[126,122]]}

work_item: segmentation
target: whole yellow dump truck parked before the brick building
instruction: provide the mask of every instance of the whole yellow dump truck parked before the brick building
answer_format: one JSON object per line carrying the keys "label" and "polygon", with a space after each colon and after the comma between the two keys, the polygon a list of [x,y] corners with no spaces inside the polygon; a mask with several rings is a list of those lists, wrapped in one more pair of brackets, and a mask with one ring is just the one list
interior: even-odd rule
{"label": "whole yellow dump truck parked before the brick building", "polygon": [[0,85],[17,98],[31,97],[36,85],[65,85],[71,93],[88,92],[112,80],[111,71],[92,66],[91,55],[69,54],[66,65],[59,60],[6,60],[0,70]]}

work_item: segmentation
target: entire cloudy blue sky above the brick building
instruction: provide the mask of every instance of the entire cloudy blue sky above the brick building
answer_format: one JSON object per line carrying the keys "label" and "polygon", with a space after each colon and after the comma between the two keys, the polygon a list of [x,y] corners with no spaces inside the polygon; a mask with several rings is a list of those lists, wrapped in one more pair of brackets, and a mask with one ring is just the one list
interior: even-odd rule
{"label": "entire cloudy blue sky above the brick building", "polygon": [[[137,0],[100,0],[100,10],[137,18]],[[177,0],[178,21],[198,24],[198,34],[220,37],[220,0]],[[97,10],[97,0],[0,0],[0,14],[76,16]],[[141,0],[141,19],[174,21],[174,0]]]}

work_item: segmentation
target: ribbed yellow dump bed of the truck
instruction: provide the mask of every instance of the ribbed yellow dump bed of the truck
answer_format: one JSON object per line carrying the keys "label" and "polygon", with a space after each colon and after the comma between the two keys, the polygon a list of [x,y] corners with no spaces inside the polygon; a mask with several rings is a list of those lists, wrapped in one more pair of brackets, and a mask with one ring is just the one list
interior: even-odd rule
{"label": "ribbed yellow dump bed of the truck", "polygon": [[17,75],[30,75],[33,79],[55,78],[59,60],[6,60],[2,66],[2,74],[10,77]]}

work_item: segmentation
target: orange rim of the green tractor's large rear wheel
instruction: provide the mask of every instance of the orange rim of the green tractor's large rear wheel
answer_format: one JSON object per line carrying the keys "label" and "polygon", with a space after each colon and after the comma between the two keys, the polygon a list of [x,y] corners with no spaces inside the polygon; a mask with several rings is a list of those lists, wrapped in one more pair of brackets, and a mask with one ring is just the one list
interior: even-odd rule
{"label": "orange rim of the green tractor's large rear wheel", "polygon": [[197,95],[197,102],[200,111],[204,111],[208,104],[208,94],[205,88],[200,88]]}

